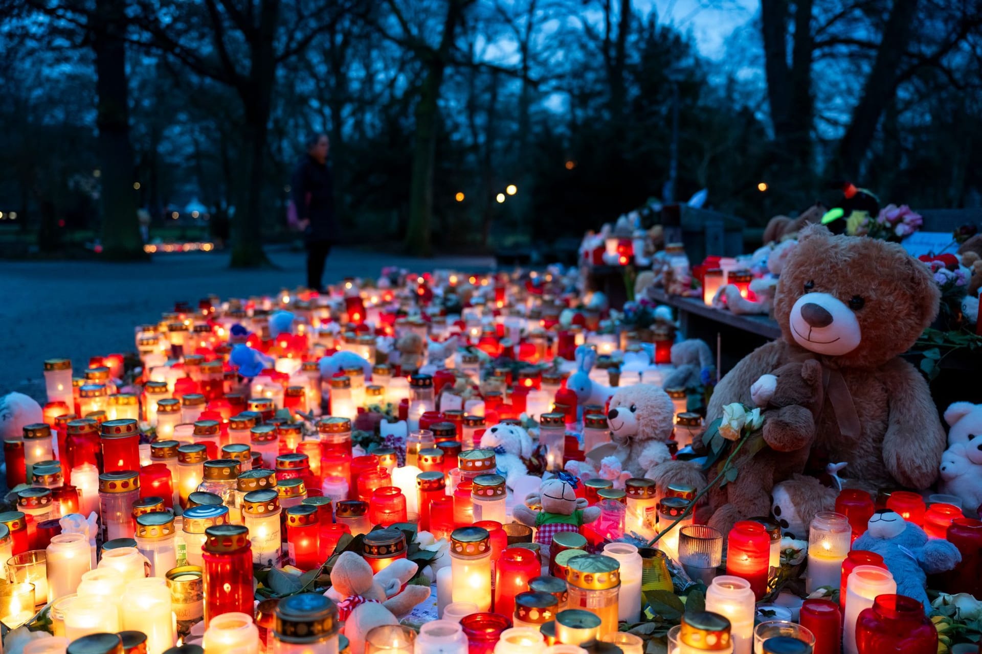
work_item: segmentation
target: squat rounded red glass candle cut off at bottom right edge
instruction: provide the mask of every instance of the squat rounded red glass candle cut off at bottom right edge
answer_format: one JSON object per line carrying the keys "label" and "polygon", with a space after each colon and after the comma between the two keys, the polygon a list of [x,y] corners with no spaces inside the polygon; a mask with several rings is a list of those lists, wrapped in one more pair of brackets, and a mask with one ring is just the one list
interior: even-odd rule
{"label": "squat rounded red glass candle cut off at bottom right edge", "polygon": [[859,654],[936,654],[938,630],[917,600],[880,595],[856,619],[856,649]]}

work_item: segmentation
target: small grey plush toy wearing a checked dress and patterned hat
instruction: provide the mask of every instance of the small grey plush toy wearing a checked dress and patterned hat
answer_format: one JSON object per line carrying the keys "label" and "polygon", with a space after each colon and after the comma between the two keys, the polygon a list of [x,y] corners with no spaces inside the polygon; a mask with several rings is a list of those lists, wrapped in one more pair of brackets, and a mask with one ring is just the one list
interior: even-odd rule
{"label": "small grey plush toy wearing a checked dress and patterned hat", "polygon": [[[561,531],[579,531],[600,518],[600,509],[589,506],[586,499],[576,497],[578,480],[567,473],[547,479],[537,493],[525,496],[525,504],[515,507],[515,520],[526,527],[538,529],[535,542],[542,546],[546,556],[553,536]],[[530,507],[541,506],[537,511]]]}

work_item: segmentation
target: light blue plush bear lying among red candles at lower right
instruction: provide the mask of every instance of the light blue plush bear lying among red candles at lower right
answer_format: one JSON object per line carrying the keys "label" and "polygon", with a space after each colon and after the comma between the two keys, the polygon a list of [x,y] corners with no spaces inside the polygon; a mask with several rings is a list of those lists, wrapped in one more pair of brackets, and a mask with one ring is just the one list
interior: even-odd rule
{"label": "light blue plush bear lying among red candles at lower right", "polygon": [[942,538],[928,538],[924,529],[908,523],[899,513],[883,509],[869,519],[866,533],[856,538],[852,549],[876,552],[897,581],[900,595],[913,597],[931,610],[927,598],[927,576],[945,573],[961,562],[961,553]]}

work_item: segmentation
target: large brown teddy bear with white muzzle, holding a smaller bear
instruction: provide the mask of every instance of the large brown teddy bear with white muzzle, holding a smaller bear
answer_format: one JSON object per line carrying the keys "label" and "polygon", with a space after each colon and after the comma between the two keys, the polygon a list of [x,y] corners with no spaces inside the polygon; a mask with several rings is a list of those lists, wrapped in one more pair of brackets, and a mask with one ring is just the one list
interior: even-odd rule
{"label": "large brown teddy bear with white muzzle, holding a smaller bear", "polygon": [[[868,487],[928,487],[938,475],[945,431],[927,383],[900,354],[934,320],[938,303],[927,267],[900,245],[805,227],[775,296],[783,337],[723,377],[707,422],[730,403],[753,405],[750,389],[761,376],[790,361],[816,359],[823,366],[825,401],[813,452],[845,462],[846,477]],[[672,480],[671,469],[661,472]],[[679,476],[690,471],[682,468]],[[740,518],[762,513],[737,508]]]}

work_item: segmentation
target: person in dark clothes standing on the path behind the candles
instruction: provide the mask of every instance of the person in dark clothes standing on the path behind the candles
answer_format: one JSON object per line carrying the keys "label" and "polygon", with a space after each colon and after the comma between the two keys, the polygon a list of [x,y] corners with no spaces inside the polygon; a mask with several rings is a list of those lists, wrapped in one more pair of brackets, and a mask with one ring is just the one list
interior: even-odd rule
{"label": "person in dark clothes standing on the path behind the candles", "polygon": [[334,220],[334,176],[327,165],[327,134],[313,134],[294,173],[291,222],[303,232],[307,250],[307,287],[323,289],[324,264],[337,237]]}

